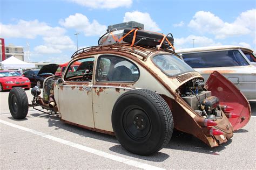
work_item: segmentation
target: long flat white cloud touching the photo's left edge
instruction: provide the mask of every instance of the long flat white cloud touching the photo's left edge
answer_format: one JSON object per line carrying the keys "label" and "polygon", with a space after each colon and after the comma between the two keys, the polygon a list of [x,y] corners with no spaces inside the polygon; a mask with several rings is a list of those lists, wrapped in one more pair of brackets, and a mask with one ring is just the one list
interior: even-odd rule
{"label": "long flat white cloud touching the photo's left edge", "polygon": [[61,27],[51,27],[37,19],[32,21],[19,20],[17,24],[0,23],[0,36],[5,38],[35,39],[37,36],[60,36],[65,33]]}

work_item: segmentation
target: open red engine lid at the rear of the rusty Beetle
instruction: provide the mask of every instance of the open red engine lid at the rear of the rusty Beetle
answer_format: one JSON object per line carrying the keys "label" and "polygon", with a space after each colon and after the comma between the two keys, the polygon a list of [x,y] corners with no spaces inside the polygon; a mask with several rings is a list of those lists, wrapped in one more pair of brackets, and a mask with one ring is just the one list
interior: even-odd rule
{"label": "open red engine lid at the rear of the rusty Beetle", "polygon": [[251,118],[251,107],[241,91],[234,84],[227,80],[219,72],[214,71],[207,80],[207,90],[212,91],[212,96],[219,98],[221,105],[232,107],[233,114],[239,115],[237,118],[228,118],[234,130],[244,127]]}

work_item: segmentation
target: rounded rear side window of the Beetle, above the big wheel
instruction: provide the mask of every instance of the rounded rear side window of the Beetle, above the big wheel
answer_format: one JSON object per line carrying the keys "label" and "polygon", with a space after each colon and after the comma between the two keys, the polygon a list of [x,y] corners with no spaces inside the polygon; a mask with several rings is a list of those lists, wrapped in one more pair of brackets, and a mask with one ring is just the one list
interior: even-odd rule
{"label": "rounded rear side window of the Beetle, above the big wheel", "polygon": [[139,69],[134,63],[120,56],[100,56],[96,80],[112,82],[133,82],[139,79]]}

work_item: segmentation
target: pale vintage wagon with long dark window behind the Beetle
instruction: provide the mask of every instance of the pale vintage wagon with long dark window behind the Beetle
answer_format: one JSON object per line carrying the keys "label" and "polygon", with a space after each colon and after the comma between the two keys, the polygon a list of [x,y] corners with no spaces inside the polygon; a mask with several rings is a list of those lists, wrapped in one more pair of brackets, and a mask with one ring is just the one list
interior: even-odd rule
{"label": "pale vintage wagon with long dark window behind the Beetle", "polygon": [[237,86],[247,99],[256,98],[256,67],[248,60],[248,48],[212,46],[176,50],[183,60],[207,80],[217,70]]}

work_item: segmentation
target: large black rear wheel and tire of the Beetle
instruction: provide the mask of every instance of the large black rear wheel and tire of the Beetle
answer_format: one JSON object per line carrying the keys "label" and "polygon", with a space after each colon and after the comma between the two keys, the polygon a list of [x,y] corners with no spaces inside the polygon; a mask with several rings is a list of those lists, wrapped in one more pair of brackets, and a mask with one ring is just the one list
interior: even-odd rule
{"label": "large black rear wheel and tire of the Beetle", "polygon": [[160,95],[151,90],[136,89],[121,95],[114,104],[112,126],[126,150],[150,155],[169,143],[173,118]]}

